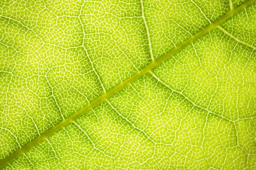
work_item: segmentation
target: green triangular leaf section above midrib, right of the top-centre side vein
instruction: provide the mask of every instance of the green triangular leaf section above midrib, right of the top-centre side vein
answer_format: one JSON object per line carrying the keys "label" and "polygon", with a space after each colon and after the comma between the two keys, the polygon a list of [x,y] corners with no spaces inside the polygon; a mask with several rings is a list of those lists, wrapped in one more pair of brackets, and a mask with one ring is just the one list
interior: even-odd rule
{"label": "green triangular leaf section above midrib, right of the top-centre side vein", "polygon": [[211,5],[209,1],[202,0],[153,0],[144,3],[156,58],[208,25],[208,19],[214,21],[228,10],[226,2],[218,0]]}

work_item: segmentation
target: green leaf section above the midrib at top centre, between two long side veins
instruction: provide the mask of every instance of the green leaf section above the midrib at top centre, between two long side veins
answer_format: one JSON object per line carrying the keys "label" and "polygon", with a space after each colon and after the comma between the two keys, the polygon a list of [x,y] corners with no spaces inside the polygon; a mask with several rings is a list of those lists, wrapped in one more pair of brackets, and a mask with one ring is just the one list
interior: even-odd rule
{"label": "green leaf section above the midrib at top centre, between two long side veins", "polygon": [[106,90],[120,84],[150,61],[145,27],[142,18],[138,17],[141,16],[140,3],[127,5],[113,0],[85,2],[80,15],[84,46]]}

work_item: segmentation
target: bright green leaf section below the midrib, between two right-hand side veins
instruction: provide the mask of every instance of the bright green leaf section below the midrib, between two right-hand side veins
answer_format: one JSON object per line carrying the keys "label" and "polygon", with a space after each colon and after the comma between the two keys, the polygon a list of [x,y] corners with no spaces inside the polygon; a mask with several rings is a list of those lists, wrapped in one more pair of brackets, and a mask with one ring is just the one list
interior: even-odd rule
{"label": "bright green leaf section below the midrib, between two right-hand side veins", "polygon": [[253,117],[256,116],[256,53],[242,47],[216,29],[154,72],[206,110],[230,120]]}

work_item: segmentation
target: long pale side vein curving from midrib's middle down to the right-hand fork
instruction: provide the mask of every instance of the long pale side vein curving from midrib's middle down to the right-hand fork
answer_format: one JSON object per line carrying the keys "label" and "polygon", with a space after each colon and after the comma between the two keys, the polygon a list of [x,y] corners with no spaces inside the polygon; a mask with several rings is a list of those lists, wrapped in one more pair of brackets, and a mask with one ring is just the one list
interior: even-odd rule
{"label": "long pale side vein curving from midrib's middle down to the right-hand fork", "polygon": [[152,71],[151,71],[150,73],[152,74],[153,77],[155,77],[155,79],[158,80],[159,83],[161,83],[162,85],[166,86],[167,88],[169,88],[170,90],[174,91],[175,93],[180,94],[180,95],[181,95],[182,97],[184,97],[188,102],[192,103],[192,104],[193,104],[194,106],[196,106],[197,108],[200,108],[200,109],[202,109],[202,110],[205,110],[205,111],[207,111],[208,113],[211,113],[212,115],[215,115],[215,116],[217,116],[217,117],[220,117],[220,118],[222,118],[222,119],[224,119],[224,120],[227,120],[227,121],[229,121],[229,122],[233,122],[233,123],[235,122],[235,121],[233,121],[233,120],[231,120],[231,119],[227,119],[227,118],[225,118],[225,117],[223,117],[223,116],[221,116],[221,115],[218,115],[218,114],[216,114],[216,113],[214,113],[214,112],[208,110],[207,108],[204,108],[204,107],[202,107],[202,106],[200,106],[200,105],[197,105],[195,102],[193,102],[192,100],[190,100],[187,96],[185,96],[182,92],[173,89],[172,87],[170,87],[169,85],[167,85],[166,83],[164,83],[163,81],[161,81],[161,80],[158,78],[158,76],[157,76],[156,74],[154,74]]}

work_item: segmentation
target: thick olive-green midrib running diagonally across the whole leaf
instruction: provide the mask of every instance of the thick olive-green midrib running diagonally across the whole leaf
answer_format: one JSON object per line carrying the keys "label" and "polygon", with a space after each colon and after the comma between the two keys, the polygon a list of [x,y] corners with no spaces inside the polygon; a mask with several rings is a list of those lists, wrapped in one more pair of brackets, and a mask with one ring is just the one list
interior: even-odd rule
{"label": "thick olive-green midrib running diagonally across the whole leaf", "polygon": [[23,147],[21,147],[19,150],[15,151],[14,153],[10,154],[9,156],[7,156],[5,159],[0,161],[0,169],[3,168],[5,165],[9,164],[10,162],[12,162],[14,159],[18,158],[20,155],[22,155],[23,153],[27,152],[29,149],[33,148],[35,145],[37,145],[39,142],[47,139],[49,136],[54,135],[57,131],[59,131],[60,129],[62,129],[63,127],[67,126],[68,124],[72,123],[75,119],[79,118],[81,115],[83,115],[84,113],[88,112],[89,110],[93,109],[94,107],[96,107],[99,103],[105,101],[106,99],[108,99],[109,97],[113,96],[114,94],[118,93],[118,91],[122,90],[123,88],[125,88],[126,86],[130,85],[132,82],[134,82],[135,80],[137,80],[139,77],[143,76],[144,74],[148,73],[149,71],[151,71],[153,68],[156,68],[158,65],[160,65],[162,62],[164,62],[165,60],[169,59],[171,56],[173,56],[175,53],[177,53],[178,51],[181,51],[182,49],[184,49],[186,46],[192,44],[193,42],[195,42],[198,38],[200,38],[201,36],[203,36],[204,34],[210,32],[211,30],[215,29],[217,26],[219,26],[222,22],[226,21],[227,19],[231,18],[232,16],[236,15],[238,12],[242,11],[243,9],[247,8],[248,6],[250,6],[251,4],[255,3],[256,0],[248,0],[245,3],[239,5],[238,7],[236,7],[235,9],[229,11],[228,13],[226,13],[224,16],[218,18],[217,20],[215,20],[214,22],[212,22],[211,24],[209,24],[208,26],[206,26],[204,29],[200,30],[197,34],[192,35],[190,38],[188,38],[187,40],[185,40],[184,42],[182,42],[181,44],[179,44],[177,47],[175,47],[174,49],[172,49],[171,51],[165,53],[164,55],[162,55],[161,57],[159,57],[158,59],[156,59],[155,61],[152,61],[149,65],[147,65],[145,68],[142,68],[141,70],[139,70],[137,73],[135,73],[133,76],[127,78],[126,80],[124,80],[122,83],[120,83],[119,85],[115,86],[114,88],[112,88],[111,90],[109,90],[108,92],[102,94],[101,96],[99,96],[96,100],[94,100],[93,102],[89,103],[88,105],[86,105],[85,107],[81,108],[79,111],[77,111],[76,113],[74,113],[73,115],[69,116],[68,118],[62,120],[61,122],[59,122],[57,125],[53,126],[51,129],[49,129],[48,131],[42,133],[40,136],[38,136],[37,138],[33,139],[32,141],[30,141],[29,143],[27,143],[26,145],[24,145]]}

